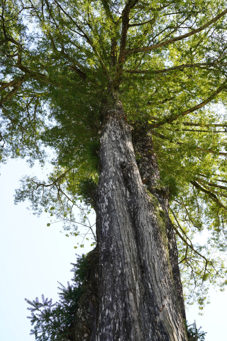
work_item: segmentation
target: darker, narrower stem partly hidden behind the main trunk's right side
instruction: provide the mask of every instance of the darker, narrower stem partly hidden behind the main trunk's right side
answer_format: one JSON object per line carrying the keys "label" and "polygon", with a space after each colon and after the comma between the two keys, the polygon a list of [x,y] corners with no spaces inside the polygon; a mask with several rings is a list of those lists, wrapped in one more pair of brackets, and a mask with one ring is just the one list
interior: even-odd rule
{"label": "darker, narrower stem partly hidden behind the main trunk's right side", "polygon": [[172,268],[172,275],[177,292],[178,301],[181,307],[182,317],[186,321],[185,302],[181,274],[178,266],[177,242],[169,217],[169,196],[168,189],[160,186],[160,174],[157,166],[156,156],[153,150],[152,135],[150,125],[137,123],[132,134],[132,142],[136,155],[137,164],[142,180],[146,183],[148,191],[154,195],[166,216],[166,234],[168,238],[169,259]]}

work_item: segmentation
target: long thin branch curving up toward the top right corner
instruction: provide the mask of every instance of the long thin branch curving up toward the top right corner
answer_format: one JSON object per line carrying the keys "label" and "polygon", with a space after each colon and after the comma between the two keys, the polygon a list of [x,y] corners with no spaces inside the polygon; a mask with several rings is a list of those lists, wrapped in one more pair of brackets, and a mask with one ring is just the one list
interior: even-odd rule
{"label": "long thin branch curving up toward the top right corner", "polygon": [[190,32],[188,32],[188,33],[186,33],[186,34],[184,34],[182,36],[178,36],[178,37],[175,37],[173,39],[169,39],[169,40],[167,40],[165,42],[158,43],[158,44],[151,45],[151,46],[147,46],[147,47],[132,48],[132,49],[127,50],[126,52],[127,53],[135,53],[135,52],[151,51],[151,50],[160,48],[162,46],[166,46],[166,45],[169,45],[171,43],[178,42],[180,40],[183,40],[185,38],[188,38],[188,37],[190,37],[190,36],[192,36],[192,35],[194,35],[196,33],[199,33],[201,31],[205,30],[207,27],[209,27],[210,25],[212,25],[213,23],[218,21],[220,18],[222,18],[226,13],[227,13],[227,9],[225,9],[223,12],[218,14],[216,17],[214,17],[213,19],[208,21],[206,24],[204,24],[201,27],[197,28],[196,30],[190,31]]}

